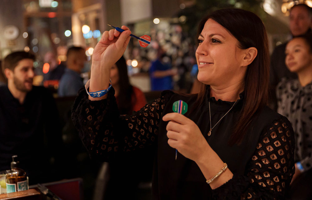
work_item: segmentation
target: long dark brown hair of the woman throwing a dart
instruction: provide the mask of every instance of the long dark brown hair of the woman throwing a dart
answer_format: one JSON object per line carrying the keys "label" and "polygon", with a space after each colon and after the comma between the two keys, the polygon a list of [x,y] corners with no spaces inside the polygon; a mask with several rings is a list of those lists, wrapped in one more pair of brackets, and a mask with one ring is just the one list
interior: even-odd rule
{"label": "long dark brown hair of the woman throwing a dart", "polygon": [[[252,118],[257,111],[266,106],[269,88],[269,50],[266,29],[256,14],[236,8],[220,9],[212,12],[199,23],[197,36],[208,19],[225,27],[239,42],[239,48],[255,47],[258,54],[248,65],[245,75],[244,103],[240,118],[229,143],[239,144],[246,134]],[[206,85],[200,83],[195,105],[200,105],[205,97]]]}

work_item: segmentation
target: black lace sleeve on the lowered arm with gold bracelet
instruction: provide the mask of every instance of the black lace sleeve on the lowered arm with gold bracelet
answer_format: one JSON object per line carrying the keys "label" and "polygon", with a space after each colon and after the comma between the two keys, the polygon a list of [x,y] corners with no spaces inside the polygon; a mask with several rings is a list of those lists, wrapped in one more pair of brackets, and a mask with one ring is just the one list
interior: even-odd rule
{"label": "black lace sleeve on the lowered arm with gold bracelet", "polygon": [[295,173],[294,144],[290,122],[275,120],[261,134],[244,176],[234,174],[213,190],[213,199],[284,199]]}

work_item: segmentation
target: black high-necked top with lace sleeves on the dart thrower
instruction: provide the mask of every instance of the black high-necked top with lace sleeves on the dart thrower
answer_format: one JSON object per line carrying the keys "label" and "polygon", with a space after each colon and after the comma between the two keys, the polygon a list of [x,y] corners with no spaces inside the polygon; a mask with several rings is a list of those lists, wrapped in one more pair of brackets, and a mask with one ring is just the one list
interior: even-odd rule
{"label": "black high-necked top with lace sleeves on the dart thrower", "polygon": [[[72,118],[90,156],[102,161],[126,156],[128,152],[154,147],[153,199],[283,199],[294,173],[294,136],[289,121],[269,108],[259,112],[241,145],[228,145],[243,99],[216,101],[209,93],[202,105],[190,116],[212,149],[234,174],[222,186],[212,190],[195,162],[169,147],[162,116],[172,112],[173,102],[182,99],[193,106],[196,97],[184,97],[164,91],[160,98],[145,105],[131,116],[119,116],[111,89],[107,99],[90,101],[80,90],[73,106]],[[142,158],[144,159],[144,158]],[[131,164],[131,163],[129,163]],[[121,180],[130,181],[131,180]]]}

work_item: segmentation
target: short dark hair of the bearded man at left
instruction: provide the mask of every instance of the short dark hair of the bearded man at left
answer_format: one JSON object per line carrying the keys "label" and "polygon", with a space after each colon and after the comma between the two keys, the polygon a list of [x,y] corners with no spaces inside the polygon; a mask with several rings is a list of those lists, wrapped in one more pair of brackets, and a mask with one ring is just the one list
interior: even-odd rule
{"label": "short dark hair of the bearded man at left", "polygon": [[3,59],[2,72],[4,73],[5,69],[10,69],[14,71],[15,67],[17,66],[17,63],[23,59],[35,60],[36,57],[32,53],[24,52],[24,51],[17,51],[17,52],[10,53]]}

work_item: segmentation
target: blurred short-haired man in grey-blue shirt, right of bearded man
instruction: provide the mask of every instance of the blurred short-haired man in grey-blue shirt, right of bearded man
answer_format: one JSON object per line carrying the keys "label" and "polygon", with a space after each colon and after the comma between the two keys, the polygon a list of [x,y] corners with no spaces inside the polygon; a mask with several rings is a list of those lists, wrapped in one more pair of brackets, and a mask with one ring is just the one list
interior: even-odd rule
{"label": "blurred short-haired man in grey-blue shirt, right of bearded man", "polygon": [[85,49],[70,47],[66,53],[66,69],[59,83],[57,94],[59,97],[76,96],[78,90],[84,86],[80,73],[87,61]]}

